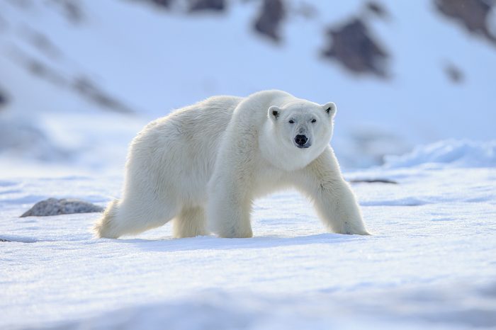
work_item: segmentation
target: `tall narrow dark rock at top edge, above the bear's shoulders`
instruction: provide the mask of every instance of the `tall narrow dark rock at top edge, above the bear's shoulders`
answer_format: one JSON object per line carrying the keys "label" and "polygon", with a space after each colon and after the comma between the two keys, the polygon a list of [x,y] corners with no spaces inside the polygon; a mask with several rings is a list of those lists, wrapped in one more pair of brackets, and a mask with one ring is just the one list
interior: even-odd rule
{"label": "tall narrow dark rock at top edge, above the bear's shoulders", "polygon": [[281,23],[286,16],[282,0],[264,0],[261,11],[254,23],[257,33],[266,35],[275,42],[281,40]]}

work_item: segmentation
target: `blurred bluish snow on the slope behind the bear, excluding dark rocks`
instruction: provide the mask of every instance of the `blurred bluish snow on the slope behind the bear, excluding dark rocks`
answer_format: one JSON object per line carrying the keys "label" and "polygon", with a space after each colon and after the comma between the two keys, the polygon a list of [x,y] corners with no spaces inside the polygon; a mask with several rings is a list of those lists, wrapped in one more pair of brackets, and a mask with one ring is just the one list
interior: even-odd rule
{"label": "blurred bluish snow on the slope behind the bear, excluding dark rocks", "polygon": [[[274,88],[338,104],[334,146],[345,166],[380,164],[384,154],[440,139],[494,138],[494,46],[440,16],[432,1],[381,1],[390,18],[366,19],[390,55],[389,80],[351,75],[320,55],[325,29],[363,16],[363,1],[310,2],[315,15],[288,14],[278,45],[251,28],[259,1],[229,1],[225,12],[191,15],[140,1],[78,1],[77,21],[63,14],[62,2],[0,1],[1,88],[9,94],[0,124],[24,132],[2,134],[13,140],[2,150],[20,149],[12,145],[24,135],[38,141],[32,133],[38,131],[48,153],[71,155],[62,157],[69,166],[82,154],[98,155],[103,168],[111,165],[91,145],[106,140],[113,128],[91,135],[91,123],[115,127],[127,117],[118,114],[125,109],[139,114],[142,125],[211,95],[246,96]],[[453,84],[446,65],[455,65],[466,78]],[[61,113],[93,120],[77,122],[78,129],[61,140],[43,125],[45,120],[74,125]],[[128,130],[115,141],[118,159],[137,128]],[[67,146],[65,139],[77,143]],[[36,142],[22,148],[27,152],[16,163],[40,159],[33,152]]]}

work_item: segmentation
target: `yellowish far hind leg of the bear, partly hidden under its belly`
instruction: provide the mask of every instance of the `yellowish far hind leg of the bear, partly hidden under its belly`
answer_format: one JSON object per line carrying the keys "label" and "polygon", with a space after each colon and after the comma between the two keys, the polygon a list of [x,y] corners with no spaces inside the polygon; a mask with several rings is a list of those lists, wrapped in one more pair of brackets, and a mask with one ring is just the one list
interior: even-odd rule
{"label": "yellowish far hind leg of the bear, partly hidden under its belly", "polygon": [[184,207],[174,219],[174,237],[196,237],[208,234],[203,207]]}

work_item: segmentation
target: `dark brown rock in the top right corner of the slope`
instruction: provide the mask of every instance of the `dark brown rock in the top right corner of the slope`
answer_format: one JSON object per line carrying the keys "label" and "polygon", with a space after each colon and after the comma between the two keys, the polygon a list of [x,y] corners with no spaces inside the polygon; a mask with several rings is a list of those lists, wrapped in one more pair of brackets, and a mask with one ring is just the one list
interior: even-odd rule
{"label": "dark brown rock in the top right corner of the slope", "polygon": [[434,0],[437,10],[453,18],[470,32],[483,35],[496,45],[496,36],[490,32],[487,16],[495,2],[485,0]]}

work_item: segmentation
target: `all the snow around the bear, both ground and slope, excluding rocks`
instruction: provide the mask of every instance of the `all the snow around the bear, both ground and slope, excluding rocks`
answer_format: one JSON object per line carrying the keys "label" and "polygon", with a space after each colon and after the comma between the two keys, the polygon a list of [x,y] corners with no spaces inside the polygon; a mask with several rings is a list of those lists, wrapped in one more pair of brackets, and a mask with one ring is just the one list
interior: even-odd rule
{"label": "all the snow around the bear, both ground and slope, excluding rocks", "polygon": [[[363,1],[313,1],[317,17],[289,16],[281,45],[250,30],[254,1],[193,16],[141,2],[79,1],[71,23],[58,1],[0,1],[0,329],[496,328],[492,45],[432,1],[384,0],[390,19],[369,24],[392,79],[378,81],[318,55]],[[84,98],[81,78],[135,113]],[[171,239],[170,224],[94,239],[96,213],[19,218],[46,198],[106,205],[148,121],[273,88],[337,103],[346,178],[397,182],[353,184],[372,236],[327,233],[294,191],[257,200],[252,239]]]}

